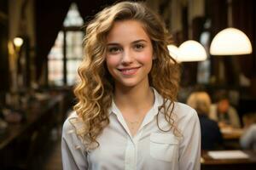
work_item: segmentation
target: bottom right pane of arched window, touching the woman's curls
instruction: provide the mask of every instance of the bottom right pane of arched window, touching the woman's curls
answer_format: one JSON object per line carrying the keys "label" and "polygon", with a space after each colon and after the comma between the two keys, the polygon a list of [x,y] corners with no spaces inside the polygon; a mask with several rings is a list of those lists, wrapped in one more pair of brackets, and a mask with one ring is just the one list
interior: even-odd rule
{"label": "bottom right pane of arched window, touching the woman's curls", "polygon": [[67,85],[73,85],[79,80],[78,68],[81,60],[67,60]]}

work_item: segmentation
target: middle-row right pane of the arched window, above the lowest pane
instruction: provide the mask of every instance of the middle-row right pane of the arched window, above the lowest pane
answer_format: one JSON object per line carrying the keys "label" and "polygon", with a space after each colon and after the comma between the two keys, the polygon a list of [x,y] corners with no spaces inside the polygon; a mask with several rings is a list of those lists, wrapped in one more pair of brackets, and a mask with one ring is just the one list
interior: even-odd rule
{"label": "middle-row right pane of the arched window, above the lowest pane", "polygon": [[67,59],[83,58],[83,38],[82,31],[67,31]]}

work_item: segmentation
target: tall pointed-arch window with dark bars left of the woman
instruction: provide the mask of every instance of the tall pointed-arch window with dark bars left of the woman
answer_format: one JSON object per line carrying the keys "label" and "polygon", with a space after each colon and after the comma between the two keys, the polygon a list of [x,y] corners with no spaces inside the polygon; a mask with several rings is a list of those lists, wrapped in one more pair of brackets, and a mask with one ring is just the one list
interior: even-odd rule
{"label": "tall pointed-arch window with dark bars left of the woman", "polygon": [[72,86],[77,80],[77,70],[83,59],[84,20],[75,3],[70,6],[58,33],[54,46],[48,54],[48,81],[51,86]]}

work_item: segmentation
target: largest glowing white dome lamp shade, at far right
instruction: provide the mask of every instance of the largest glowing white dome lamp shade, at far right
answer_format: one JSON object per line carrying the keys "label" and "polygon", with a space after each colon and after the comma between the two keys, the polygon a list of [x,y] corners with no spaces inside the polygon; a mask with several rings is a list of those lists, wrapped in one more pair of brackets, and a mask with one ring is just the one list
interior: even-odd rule
{"label": "largest glowing white dome lamp shade, at far right", "polygon": [[252,44],[245,33],[236,28],[226,28],[212,39],[210,54],[239,55],[251,54]]}

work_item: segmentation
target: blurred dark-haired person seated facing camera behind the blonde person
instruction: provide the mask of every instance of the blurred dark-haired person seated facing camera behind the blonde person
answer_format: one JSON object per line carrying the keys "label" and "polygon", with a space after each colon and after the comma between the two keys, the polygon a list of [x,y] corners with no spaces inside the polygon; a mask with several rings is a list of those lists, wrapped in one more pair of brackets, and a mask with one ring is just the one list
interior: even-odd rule
{"label": "blurred dark-haired person seated facing camera behind the blonde person", "polygon": [[216,94],[217,102],[211,105],[209,117],[218,122],[219,127],[241,127],[236,109],[230,105],[225,91]]}

